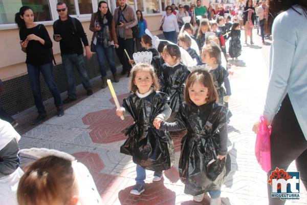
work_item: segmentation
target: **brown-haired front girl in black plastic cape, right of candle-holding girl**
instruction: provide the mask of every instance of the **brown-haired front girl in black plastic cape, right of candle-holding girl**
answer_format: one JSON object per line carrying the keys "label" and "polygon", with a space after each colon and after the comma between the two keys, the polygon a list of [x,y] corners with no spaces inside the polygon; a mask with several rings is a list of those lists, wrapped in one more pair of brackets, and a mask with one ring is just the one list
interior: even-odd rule
{"label": "brown-haired front girl in black plastic cape, right of candle-holding girl", "polygon": [[[203,90],[198,90],[196,84],[202,85]],[[204,95],[206,88],[207,95]],[[199,93],[197,100],[193,97],[195,92]],[[230,172],[227,109],[215,103],[216,99],[210,74],[204,70],[193,71],[187,79],[185,102],[179,108],[176,121],[155,125],[166,131],[187,130],[181,141],[179,174],[185,183],[184,193],[193,195],[195,201],[202,201],[206,192],[209,192],[211,202],[221,201],[221,186]]]}

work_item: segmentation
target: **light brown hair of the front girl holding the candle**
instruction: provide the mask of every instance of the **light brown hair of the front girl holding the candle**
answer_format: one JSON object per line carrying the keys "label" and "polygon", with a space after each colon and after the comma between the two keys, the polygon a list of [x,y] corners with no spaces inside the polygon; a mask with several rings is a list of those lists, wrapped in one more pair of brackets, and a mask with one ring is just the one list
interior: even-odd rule
{"label": "light brown hair of the front girl holding the candle", "polygon": [[153,69],[153,67],[147,63],[139,63],[131,69],[130,80],[129,80],[130,81],[129,89],[131,92],[136,93],[139,90],[134,83],[138,71],[148,71],[152,78],[153,90],[158,91],[160,89],[159,80],[155,72],[155,69]]}

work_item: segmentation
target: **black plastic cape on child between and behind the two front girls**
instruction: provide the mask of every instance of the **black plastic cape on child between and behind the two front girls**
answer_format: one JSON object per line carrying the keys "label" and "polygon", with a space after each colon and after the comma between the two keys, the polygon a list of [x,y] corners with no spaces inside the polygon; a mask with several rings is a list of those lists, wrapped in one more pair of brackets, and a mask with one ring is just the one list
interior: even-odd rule
{"label": "black plastic cape on child between and behind the two front girls", "polygon": [[190,71],[182,64],[174,67],[168,67],[166,64],[162,66],[161,91],[168,94],[172,113],[177,112],[183,103],[184,83],[189,74]]}

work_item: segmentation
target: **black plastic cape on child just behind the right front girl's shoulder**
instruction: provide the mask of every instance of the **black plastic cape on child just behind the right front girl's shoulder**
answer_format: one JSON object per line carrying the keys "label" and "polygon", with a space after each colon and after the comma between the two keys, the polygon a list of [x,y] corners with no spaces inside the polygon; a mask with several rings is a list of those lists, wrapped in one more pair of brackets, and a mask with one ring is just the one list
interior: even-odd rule
{"label": "black plastic cape on child just behind the right front girl's shoulder", "polygon": [[226,91],[223,87],[224,80],[228,77],[229,73],[227,70],[221,66],[218,65],[216,69],[210,70],[210,73],[213,76],[213,84],[216,89],[216,92],[218,94],[219,103],[224,103],[224,96],[226,95]]}

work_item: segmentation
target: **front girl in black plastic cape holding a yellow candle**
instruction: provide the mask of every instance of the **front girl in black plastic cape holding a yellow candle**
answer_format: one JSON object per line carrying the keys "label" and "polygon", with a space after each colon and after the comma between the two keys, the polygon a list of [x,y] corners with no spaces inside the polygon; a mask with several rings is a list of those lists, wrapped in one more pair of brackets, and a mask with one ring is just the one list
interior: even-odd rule
{"label": "front girl in black plastic cape holding a yellow candle", "polygon": [[[152,81],[148,83],[150,76]],[[152,180],[159,181],[162,171],[170,169],[174,163],[174,146],[169,133],[157,130],[152,125],[153,121],[166,120],[171,113],[168,95],[158,89],[159,83],[153,67],[137,64],[131,70],[131,92],[123,100],[124,109],[116,111],[118,116],[127,111],[134,119],[134,124],[123,131],[128,138],[120,152],[131,155],[137,164],[136,186],[130,192],[135,195],[145,191],[145,169],[155,171]]]}

